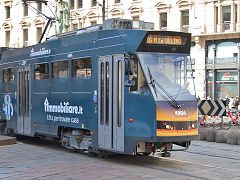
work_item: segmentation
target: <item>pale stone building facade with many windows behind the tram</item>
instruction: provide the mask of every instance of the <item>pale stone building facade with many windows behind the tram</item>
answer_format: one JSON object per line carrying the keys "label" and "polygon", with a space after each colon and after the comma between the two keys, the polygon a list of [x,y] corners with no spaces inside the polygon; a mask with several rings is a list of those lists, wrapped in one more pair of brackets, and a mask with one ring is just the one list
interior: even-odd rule
{"label": "pale stone building facade with many windows behind the tram", "polygon": [[[102,0],[68,0],[70,30],[102,23]],[[53,17],[55,0],[30,5]],[[23,47],[40,39],[47,19],[21,1],[0,1],[0,46]],[[192,33],[191,63],[197,96],[240,94],[240,0],[105,0],[105,18],[153,22],[156,30]],[[56,21],[44,39],[56,34]]]}

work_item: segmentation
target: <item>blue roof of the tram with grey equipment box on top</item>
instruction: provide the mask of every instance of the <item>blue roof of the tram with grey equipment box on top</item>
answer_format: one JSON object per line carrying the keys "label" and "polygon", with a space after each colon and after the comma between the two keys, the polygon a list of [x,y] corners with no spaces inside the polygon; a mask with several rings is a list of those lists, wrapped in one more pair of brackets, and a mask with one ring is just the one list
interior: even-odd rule
{"label": "blue roof of the tram with grey equipment box on top", "polygon": [[[115,23],[113,26],[116,20],[118,23]],[[123,26],[125,22],[126,24]],[[18,60],[30,59],[31,54],[47,54],[48,50],[55,51],[56,49],[59,50],[60,47],[70,47],[74,46],[75,44],[92,43],[92,46],[94,44],[97,46],[96,42],[98,42],[98,46],[100,47],[101,44],[106,45],[106,42],[110,42],[110,44],[117,44],[120,43],[119,41],[121,41],[122,44],[127,46],[126,48],[129,50],[129,52],[134,52],[143,40],[146,32],[153,31],[153,24],[145,23],[143,21],[136,22],[133,20],[109,19],[106,20],[103,25],[95,25],[88,28],[55,35],[40,44],[23,48],[4,49],[5,51],[2,53],[1,62],[16,62]],[[129,25],[127,27],[127,23],[131,24],[131,26]],[[134,28],[133,25],[136,27],[138,26],[138,28]],[[145,27],[147,29],[145,29]],[[109,39],[113,39],[113,41],[111,42]],[[67,53],[67,48],[65,48],[64,51]]]}

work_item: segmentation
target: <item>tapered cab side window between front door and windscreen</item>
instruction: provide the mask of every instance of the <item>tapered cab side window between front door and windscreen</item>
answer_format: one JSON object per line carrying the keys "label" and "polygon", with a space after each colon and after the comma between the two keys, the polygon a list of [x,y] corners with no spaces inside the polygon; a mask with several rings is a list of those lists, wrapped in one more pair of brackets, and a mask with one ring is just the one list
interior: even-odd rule
{"label": "tapered cab side window between front door and windscreen", "polygon": [[145,90],[148,89],[147,81],[143,75],[141,65],[137,58],[133,58],[133,61],[133,74],[129,75],[129,80],[134,80],[135,84],[133,87],[130,87],[130,92],[142,91],[141,94],[144,94]]}

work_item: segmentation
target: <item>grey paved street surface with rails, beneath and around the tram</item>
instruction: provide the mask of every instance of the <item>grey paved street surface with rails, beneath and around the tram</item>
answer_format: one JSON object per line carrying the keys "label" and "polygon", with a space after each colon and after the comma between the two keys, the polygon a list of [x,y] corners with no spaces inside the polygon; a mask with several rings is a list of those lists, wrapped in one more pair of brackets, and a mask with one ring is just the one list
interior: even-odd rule
{"label": "grey paved street surface with rails, beneath and around the tram", "polygon": [[0,179],[240,179],[240,146],[194,141],[188,151],[108,159],[63,150],[57,142],[28,139],[0,147]]}

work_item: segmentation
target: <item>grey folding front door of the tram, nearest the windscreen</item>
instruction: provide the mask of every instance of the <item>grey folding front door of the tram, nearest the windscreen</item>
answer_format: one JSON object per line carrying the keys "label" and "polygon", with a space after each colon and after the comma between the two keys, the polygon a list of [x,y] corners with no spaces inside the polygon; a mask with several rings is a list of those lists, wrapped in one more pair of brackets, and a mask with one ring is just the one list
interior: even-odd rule
{"label": "grey folding front door of the tram, nearest the windscreen", "polygon": [[124,151],[124,56],[98,59],[98,146]]}

